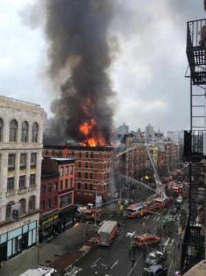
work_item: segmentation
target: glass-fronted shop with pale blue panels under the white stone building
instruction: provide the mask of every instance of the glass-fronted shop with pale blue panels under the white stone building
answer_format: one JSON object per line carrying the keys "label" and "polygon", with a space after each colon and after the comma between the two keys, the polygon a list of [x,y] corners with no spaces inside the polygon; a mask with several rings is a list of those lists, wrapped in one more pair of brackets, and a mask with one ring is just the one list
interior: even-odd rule
{"label": "glass-fronted shop with pale blue panels under the white stone building", "polygon": [[0,261],[8,260],[36,244],[37,221],[0,235]]}

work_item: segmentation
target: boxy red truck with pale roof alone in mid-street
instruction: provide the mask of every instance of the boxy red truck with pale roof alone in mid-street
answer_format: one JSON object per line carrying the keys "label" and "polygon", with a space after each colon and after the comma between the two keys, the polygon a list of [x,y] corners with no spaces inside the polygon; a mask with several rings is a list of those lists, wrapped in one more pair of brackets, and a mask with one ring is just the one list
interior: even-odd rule
{"label": "boxy red truck with pale roof alone in mid-street", "polygon": [[110,246],[111,242],[117,235],[117,221],[104,221],[98,230],[98,245]]}

